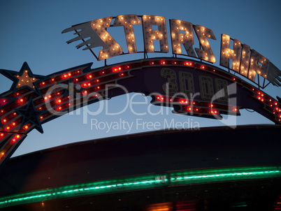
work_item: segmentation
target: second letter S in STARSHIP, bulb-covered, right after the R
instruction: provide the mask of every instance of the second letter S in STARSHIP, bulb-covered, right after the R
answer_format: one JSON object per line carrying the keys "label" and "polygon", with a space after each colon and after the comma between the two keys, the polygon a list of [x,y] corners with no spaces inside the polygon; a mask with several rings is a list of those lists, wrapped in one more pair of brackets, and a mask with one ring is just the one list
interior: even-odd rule
{"label": "second letter S in STARSHIP, bulb-covered, right after the R", "polygon": [[217,38],[215,38],[215,35],[212,33],[212,30],[206,27],[202,27],[200,25],[194,26],[194,30],[203,48],[203,50],[199,48],[195,48],[199,59],[209,61],[211,63],[215,63],[215,55],[212,53],[212,49],[210,48],[210,43],[207,40],[207,38],[217,40]]}

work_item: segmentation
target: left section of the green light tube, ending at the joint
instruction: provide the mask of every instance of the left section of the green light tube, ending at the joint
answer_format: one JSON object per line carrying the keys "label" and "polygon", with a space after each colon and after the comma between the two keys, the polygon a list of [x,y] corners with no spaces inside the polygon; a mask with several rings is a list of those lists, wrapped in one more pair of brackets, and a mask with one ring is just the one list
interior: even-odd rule
{"label": "left section of the green light tube, ending at the joint", "polygon": [[0,198],[0,208],[12,205],[20,205],[24,203],[48,201],[55,198],[69,198],[72,196],[84,196],[113,191],[159,187],[163,184],[166,184],[166,182],[168,182],[168,180],[166,179],[166,175],[145,175],[128,177],[119,180],[105,180],[99,182],[73,184],[64,187],[58,187],[55,189],[31,191],[12,196],[5,196],[3,198]]}

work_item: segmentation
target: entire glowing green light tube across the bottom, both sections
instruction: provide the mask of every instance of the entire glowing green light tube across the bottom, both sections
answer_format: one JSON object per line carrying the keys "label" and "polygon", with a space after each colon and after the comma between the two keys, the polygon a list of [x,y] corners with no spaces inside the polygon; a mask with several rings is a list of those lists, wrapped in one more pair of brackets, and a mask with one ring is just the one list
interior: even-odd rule
{"label": "entire glowing green light tube across the bottom, both sections", "polygon": [[259,166],[185,170],[181,172],[166,173],[163,175],[144,175],[116,180],[73,184],[54,189],[30,191],[22,194],[4,196],[0,198],[0,208],[25,203],[48,201],[55,198],[70,198],[73,196],[110,193],[114,191],[147,189],[161,186],[168,187],[169,185],[174,186],[178,184],[219,182],[227,180],[251,180],[271,177],[281,177],[281,168],[277,166]]}

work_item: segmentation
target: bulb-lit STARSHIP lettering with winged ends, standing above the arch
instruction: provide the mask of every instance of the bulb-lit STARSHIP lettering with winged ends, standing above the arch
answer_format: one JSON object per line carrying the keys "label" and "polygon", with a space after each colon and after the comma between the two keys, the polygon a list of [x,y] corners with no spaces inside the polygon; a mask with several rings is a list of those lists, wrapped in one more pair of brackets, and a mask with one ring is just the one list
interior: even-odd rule
{"label": "bulb-lit STARSHIP lettering with winged ends, standing above the arch", "polygon": [[[111,24],[112,22],[113,24]],[[208,42],[208,39],[217,39],[212,29],[182,20],[172,19],[169,23],[173,54],[187,55],[203,61],[215,63],[216,58],[212,52],[212,46],[210,46]],[[136,24],[142,24],[144,52],[169,52],[166,20],[165,17],[161,16],[118,15],[114,18],[112,16],[104,17],[74,25],[69,29],[65,29],[62,33],[75,31],[75,35],[77,36],[67,41],[67,43],[81,40],[82,43],[76,45],[76,48],[81,48],[84,45],[86,45],[86,47],[83,50],[102,47],[103,50],[99,51],[99,57],[92,52],[96,59],[100,61],[120,54],[126,54],[120,44],[117,43],[113,36],[107,31],[107,29],[112,27],[124,27],[127,54],[141,52],[136,48],[136,38],[134,34],[134,25]],[[157,29],[154,29],[155,27],[157,27]],[[194,36],[198,38],[200,48],[194,48]],[[86,38],[87,40],[85,41]],[[159,41],[159,51],[155,50],[154,41]],[[230,46],[231,41],[233,41],[233,46]],[[255,82],[256,75],[260,75],[275,86],[279,87],[281,85],[281,71],[274,66],[271,61],[259,54],[256,50],[250,49],[250,46],[242,44],[240,41],[226,34],[222,34],[221,37],[219,64],[243,75],[252,82]],[[258,83],[260,84],[260,82]],[[261,85],[261,87],[264,87],[264,85]]]}

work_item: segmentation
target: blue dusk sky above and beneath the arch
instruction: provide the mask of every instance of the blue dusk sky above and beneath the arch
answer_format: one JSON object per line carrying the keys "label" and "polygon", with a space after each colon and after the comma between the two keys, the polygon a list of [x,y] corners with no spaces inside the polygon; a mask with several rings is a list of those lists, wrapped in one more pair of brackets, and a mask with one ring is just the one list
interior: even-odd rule
{"label": "blue dusk sky above and beneath the arch", "polygon": [[[1,1],[0,2],[0,68],[20,71],[24,61],[27,61],[31,71],[38,75],[49,75],[73,66],[94,62],[92,68],[103,65],[96,61],[89,50],[77,50],[78,43],[66,44],[74,38],[72,32],[62,34],[62,31],[74,24],[96,20],[102,17],[117,15],[161,15],[168,20],[178,19],[199,24],[212,29],[217,41],[209,40],[217,58],[215,66],[219,66],[219,50],[221,34],[228,34],[250,48],[257,50],[268,58],[275,66],[281,68],[280,42],[280,0],[249,0],[249,1]],[[122,30],[120,30],[122,31]],[[116,39],[122,40],[117,31]],[[114,33],[113,33],[114,36]],[[168,35],[169,53],[159,57],[171,57],[171,41]],[[123,55],[108,59],[108,64],[121,61],[142,59],[143,54]],[[0,92],[10,89],[12,82],[0,75]],[[280,87],[269,85],[264,92],[276,98]],[[122,110],[125,96],[118,96],[108,101],[109,110]],[[135,101],[143,101],[143,96],[136,96]],[[147,99],[150,101],[150,98]],[[147,111],[147,105],[138,108]],[[98,105],[89,109],[95,110]],[[159,107],[152,108],[154,112]],[[82,112],[82,111],[81,111]],[[169,112],[169,115],[144,115],[136,117],[130,110],[122,115],[108,116],[102,113],[95,118],[99,121],[119,121],[120,118],[134,122],[136,118],[143,121],[159,121],[175,119],[190,124],[198,122],[203,126],[223,125],[215,119],[179,116]],[[241,110],[238,124],[273,124],[256,112]],[[83,124],[82,115],[74,112],[72,115],[59,117],[43,124],[44,133],[34,130],[29,133],[14,155],[25,154],[36,150],[73,143],[80,140],[103,138],[127,134],[127,130],[91,129],[89,122]],[[139,133],[147,129],[134,129],[129,133]]]}

